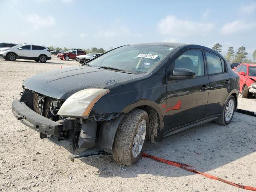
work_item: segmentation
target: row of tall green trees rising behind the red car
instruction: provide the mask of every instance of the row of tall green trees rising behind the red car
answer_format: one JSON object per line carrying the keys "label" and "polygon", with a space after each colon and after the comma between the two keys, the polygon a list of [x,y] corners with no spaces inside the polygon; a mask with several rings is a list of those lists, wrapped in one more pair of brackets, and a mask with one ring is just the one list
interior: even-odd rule
{"label": "row of tall green trees rising behind the red car", "polygon": [[[222,52],[221,50],[222,45],[219,43],[216,43],[212,49],[217,52]],[[241,46],[238,48],[237,52],[235,53],[234,47],[228,47],[228,52],[224,56],[226,60],[230,63],[256,63],[256,50],[252,54],[252,60],[247,58],[248,53],[246,52],[246,49],[244,46]]]}

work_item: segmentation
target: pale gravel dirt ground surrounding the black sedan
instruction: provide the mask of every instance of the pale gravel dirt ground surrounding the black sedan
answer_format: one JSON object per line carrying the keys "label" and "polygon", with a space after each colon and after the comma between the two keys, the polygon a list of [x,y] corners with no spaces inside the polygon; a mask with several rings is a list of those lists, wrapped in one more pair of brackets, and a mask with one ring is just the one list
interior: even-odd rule
{"label": "pale gravel dirt ground surrounding the black sedan", "polygon": [[[22,82],[40,72],[78,65],[53,56],[46,64],[0,59],[0,191],[192,191],[242,189],[180,168],[142,158],[122,167],[111,156],[75,159],[70,152],[14,118],[12,100],[20,98]],[[256,111],[255,99],[239,98],[238,107]],[[146,152],[183,162],[206,172],[256,187],[256,118],[235,113],[228,126],[208,123],[174,134]]]}

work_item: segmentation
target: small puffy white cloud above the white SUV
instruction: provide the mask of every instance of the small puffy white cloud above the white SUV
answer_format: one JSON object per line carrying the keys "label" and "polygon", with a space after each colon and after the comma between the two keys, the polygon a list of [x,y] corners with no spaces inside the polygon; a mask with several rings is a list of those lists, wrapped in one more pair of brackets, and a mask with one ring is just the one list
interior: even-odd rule
{"label": "small puffy white cloud above the white SUV", "polygon": [[36,13],[29,14],[26,16],[25,20],[32,24],[33,28],[35,29],[52,26],[55,24],[55,19],[52,16],[46,16],[45,18],[42,18]]}

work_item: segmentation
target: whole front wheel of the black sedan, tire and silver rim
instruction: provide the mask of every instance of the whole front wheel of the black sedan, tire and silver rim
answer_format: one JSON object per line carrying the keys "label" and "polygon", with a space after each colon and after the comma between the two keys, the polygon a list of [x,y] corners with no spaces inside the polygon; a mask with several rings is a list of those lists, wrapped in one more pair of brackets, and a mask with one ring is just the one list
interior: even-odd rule
{"label": "whole front wheel of the black sedan, tire and silver rim", "polygon": [[141,109],[130,111],[116,131],[113,146],[113,158],[116,162],[131,166],[140,159],[146,131],[148,114]]}

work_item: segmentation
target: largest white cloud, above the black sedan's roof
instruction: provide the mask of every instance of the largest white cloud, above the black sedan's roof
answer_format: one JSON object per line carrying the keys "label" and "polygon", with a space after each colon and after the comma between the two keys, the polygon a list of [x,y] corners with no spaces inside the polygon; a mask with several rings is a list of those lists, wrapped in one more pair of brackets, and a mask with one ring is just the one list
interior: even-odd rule
{"label": "largest white cloud, above the black sedan's roof", "polygon": [[157,24],[161,34],[177,37],[206,34],[215,27],[214,23],[194,22],[168,15]]}

